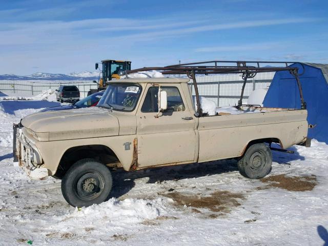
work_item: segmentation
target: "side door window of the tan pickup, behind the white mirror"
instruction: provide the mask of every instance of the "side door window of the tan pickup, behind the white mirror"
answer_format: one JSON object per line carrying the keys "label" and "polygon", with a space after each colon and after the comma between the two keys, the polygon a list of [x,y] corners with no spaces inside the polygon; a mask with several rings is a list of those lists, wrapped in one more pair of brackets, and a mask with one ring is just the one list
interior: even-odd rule
{"label": "side door window of the tan pickup, behind the white mirror", "polygon": [[[176,87],[161,87],[167,92],[168,109],[165,112],[185,111],[180,92]],[[158,112],[158,87],[149,88],[144,104],[141,107],[142,113]]]}

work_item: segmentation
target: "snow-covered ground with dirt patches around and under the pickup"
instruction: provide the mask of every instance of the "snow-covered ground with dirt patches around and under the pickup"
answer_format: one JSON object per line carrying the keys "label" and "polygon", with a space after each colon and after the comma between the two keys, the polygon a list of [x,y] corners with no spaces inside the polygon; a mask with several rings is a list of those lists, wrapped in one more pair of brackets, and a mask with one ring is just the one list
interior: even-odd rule
{"label": "snow-covered ground with dirt patches around and under the pickup", "polygon": [[0,100],[0,245],[328,243],[327,145],[274,152],[263,180],[242,177],[232,160],[117,171],[113,198],[77,209],[60,180],[29,180],[12,162],[12,123],[56,104]]}

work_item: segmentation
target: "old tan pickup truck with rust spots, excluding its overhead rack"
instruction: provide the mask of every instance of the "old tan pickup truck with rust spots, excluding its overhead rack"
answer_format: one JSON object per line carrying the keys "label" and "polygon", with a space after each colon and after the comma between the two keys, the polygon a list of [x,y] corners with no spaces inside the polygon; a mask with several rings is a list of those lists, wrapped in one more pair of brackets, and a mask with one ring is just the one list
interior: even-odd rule
{"label": "old tan pickup truck with rust spots, excluding its overhead rack", "polygon": [[72,206],[109,198],[111,172],[237,158],[240,173],[271,170],[269,145],[306,140],[306,110],[238,107],[240,114],[196,114],[188,78],[112,81],[97,107],[39,112],[17,128],[19,166],[32,179],[61,179]]}

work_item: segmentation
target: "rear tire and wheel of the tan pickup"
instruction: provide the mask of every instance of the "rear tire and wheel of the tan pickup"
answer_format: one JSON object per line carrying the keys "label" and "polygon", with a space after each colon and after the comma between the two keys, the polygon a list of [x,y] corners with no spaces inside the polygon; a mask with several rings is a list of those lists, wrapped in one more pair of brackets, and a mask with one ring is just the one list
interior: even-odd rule
{"label": "rear tire and wheel of the tan pickup", "polygon": [[240,174],[252,179],[265,177],[270,173],[271,166],[271,150],[263,143],[251,145],[238,161]]}

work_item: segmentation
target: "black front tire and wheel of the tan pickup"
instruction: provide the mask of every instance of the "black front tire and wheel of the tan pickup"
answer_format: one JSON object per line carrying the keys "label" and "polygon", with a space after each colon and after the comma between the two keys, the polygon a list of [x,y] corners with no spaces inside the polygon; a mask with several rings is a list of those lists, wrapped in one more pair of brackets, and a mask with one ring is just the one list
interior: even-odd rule
{"label": "black front tire and wheel of the tan pickup", "polygon": [[61,193],[73,207],[88,207],[109,198],[113,179],[110,170],[94,159],[75,162],[61,180]]}

